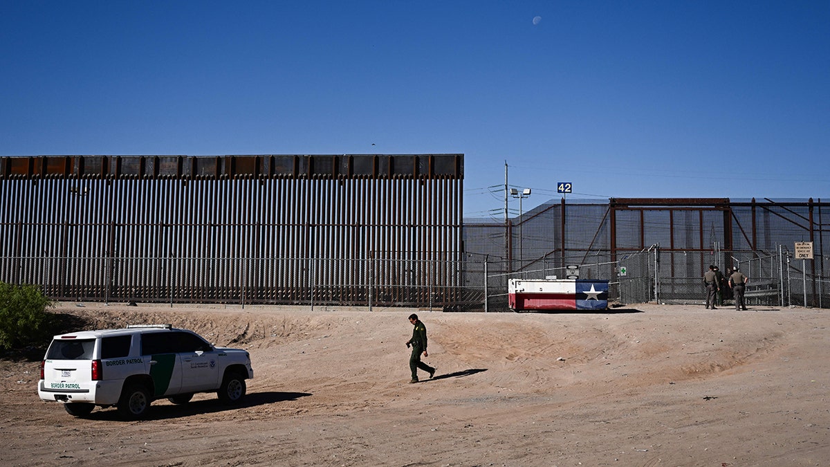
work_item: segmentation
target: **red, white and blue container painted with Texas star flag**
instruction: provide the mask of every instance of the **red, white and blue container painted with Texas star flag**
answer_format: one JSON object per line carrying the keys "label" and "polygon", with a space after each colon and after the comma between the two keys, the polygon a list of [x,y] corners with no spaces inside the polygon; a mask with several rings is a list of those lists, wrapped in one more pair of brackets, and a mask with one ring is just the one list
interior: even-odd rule
{"label": "red, white and blue container painted with Texas star flag", "polygon": [[510,309],[605,310],[608,308],[608,281],[593,279],[510,279]]}

